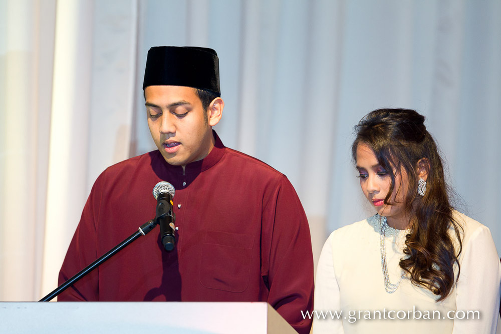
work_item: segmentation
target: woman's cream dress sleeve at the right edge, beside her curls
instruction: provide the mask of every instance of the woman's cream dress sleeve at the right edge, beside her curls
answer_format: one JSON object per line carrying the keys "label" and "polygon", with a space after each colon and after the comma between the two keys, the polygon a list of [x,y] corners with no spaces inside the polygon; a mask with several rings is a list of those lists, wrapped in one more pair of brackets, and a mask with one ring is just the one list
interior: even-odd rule
{"label": "woman's cream dress sleeve at the right edge, beside her curls", "polygon": [[495,333],[499,312],[501,264],[486,226],[476,228],[463,244],[463,260],[456,285],[456,316],[458,311],[480,312],[480,319],[454,319],[453,334]]}

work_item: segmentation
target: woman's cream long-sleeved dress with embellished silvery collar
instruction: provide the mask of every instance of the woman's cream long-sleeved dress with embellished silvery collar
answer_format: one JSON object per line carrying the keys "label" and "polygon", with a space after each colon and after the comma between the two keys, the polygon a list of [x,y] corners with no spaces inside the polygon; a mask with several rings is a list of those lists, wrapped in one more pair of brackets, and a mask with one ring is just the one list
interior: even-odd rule
{"label": "woman's cream long-sleeved dress with embellished silvery collar", "polygon": [[[435,302],[436,296],[406,276],[395,292],[386,292],[379,217],[339,228],[325,242],[315,280],[313,333],[495,333],[501,265],[489,229],[454,211],[464,229],[460,275],[450,295]],[[407,233],[386,226],[391,283],[401,276]]]}

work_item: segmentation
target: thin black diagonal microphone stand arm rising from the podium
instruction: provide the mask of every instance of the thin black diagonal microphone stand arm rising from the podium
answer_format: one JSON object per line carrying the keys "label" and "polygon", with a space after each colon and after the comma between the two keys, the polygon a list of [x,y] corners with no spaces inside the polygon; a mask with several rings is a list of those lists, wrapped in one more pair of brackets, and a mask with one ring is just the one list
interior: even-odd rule
{"label": "thin black diagonal microphone stand arm rising from the podium", "polygon": [[[166,215],[166,214],[167,213],[165,213],[164,215]],[[100,264],[102,264],[103,262],[108,260],[110,257],[112,257],[113,255],[118,253],[123,248],[125,248],[125,246],[132,243],[132,241],[136,240],[141,235],[146,235],[149,231],[151,231],[158,224],[159,218],[162,218],[164,215],[161,215],[160,217],[156,217],[155,219],[152,219],[152,220],[144,223],[143,225],[141,225],[138,228],[137,232],[133,233],[131,236],[129,236],[127,239],[125,239],[124,241],[119,243],[117,246],[115,246],[109,252],[107,252],[106,254],[104,254],[103,256],[101,256],[100,258],[98,258],[97,260],[95,260],[94,262],[89,264],[88,266],[86,266],[84,269],[82,269],[80,272],[78,272],[75,276],[68,279],[63,284],[59,285],[54,291],[52,291],[51,293],[49,293],[48,295],[46,295],[45,297],[43,297],[39,301],[50,301],[52,298],[54,298],[55,296],[57,296],[58,294],[60,294],[61,292],[63,292],[64,290],[66,290],[67,288],[72,286],[73,284],[75,284],[80,278],[84,277],[89,272],[91,272],[92,270],[97,268]]]}

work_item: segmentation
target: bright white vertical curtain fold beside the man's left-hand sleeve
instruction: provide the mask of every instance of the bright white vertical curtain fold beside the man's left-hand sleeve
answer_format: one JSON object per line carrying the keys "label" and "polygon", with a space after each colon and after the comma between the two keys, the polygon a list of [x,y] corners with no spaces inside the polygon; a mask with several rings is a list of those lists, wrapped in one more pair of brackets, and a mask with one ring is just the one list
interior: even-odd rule
{"label": "bright white vertical curtain fold beside the man's left-hand sleeve", "polygon": [[43,293],[57,287],[57,273],[86,200],[92,5],[78,0],[56,6]]}

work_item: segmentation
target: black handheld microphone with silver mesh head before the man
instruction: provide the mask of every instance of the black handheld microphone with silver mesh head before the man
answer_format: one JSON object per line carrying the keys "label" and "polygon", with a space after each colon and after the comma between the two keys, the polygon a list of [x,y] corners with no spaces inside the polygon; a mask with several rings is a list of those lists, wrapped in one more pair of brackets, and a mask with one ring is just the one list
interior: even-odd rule
{"label": "black handheld microphone with silver mesh head before the man", "polygon": [[157,200],[156,217],[160,225],[160,240],[165,250],[171,251],[174,249],[176,237],[174,235],[176,217],[172,212],[172,198],[174,198],[176,190],[169,182],[158,182],[153,188],[153,197]]}

